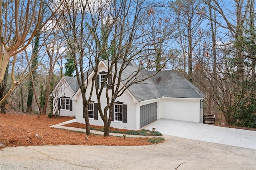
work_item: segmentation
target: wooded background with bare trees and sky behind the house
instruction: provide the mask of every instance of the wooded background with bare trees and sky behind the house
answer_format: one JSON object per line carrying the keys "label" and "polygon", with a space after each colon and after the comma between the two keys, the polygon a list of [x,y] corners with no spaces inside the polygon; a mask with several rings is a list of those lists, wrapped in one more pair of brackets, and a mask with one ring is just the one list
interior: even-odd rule
{"label": "wooded background with bare trees and sky behind the house", "polygon": [[256,128],[254,0],[2,0],[0,10],[2,113],[48,114],[62,76],[80,75],[90,90],[86,70],[123,59],[179,71],[217,123]]}

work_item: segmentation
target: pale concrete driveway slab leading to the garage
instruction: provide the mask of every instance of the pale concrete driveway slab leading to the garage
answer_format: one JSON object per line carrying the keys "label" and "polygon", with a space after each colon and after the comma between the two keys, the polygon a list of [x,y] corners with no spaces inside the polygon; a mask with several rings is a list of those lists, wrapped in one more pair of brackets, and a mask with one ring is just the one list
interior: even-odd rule
{"label": "pale concrete driveway slab leading to the garage", "polygon": [[256,149],[256,131],[218,127],[203,123],[159,119],[145,129],[204,142]]}

